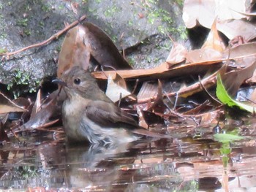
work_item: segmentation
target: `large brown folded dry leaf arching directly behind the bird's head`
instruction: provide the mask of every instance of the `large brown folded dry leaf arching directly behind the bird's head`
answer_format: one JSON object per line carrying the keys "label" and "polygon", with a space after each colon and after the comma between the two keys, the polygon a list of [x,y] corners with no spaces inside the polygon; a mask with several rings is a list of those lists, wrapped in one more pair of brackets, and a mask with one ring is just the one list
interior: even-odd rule
{"label": "large brown folded dry leaf arching directly behind the bird's head", "polygon": [[89,64],[131,69],[110,37],[92,23],[83,23],[68,31],[61,46],[58,77],[72,66],[88,69]]}

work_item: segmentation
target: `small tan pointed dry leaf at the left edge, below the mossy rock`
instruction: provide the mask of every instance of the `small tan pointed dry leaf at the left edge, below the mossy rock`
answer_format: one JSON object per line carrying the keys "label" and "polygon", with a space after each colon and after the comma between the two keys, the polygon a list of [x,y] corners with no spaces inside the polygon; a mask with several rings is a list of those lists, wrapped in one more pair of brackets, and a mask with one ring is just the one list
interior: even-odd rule
{"label": "small tan pointed dry leaf at the left edge, below the mossy rock", "polygon": [[26,110],[12,102],[3,93],[0,93],[0,114],[7,112],[26,112]]}

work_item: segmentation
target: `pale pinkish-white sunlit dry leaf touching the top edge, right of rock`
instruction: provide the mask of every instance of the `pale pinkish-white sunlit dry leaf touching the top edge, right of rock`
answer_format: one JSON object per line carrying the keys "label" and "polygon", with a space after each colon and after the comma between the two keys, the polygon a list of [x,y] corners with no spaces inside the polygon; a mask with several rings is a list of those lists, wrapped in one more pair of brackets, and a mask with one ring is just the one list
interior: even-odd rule
{"label": "pale pinkish-white sunlit dry leaf touching the top edge, right of rock", "polygon": [[245,18],[239,13],[245,10],[245,0],[185,0],[182,18],[187,28],[197,23],[211,28],[215,18],[220,21]]}

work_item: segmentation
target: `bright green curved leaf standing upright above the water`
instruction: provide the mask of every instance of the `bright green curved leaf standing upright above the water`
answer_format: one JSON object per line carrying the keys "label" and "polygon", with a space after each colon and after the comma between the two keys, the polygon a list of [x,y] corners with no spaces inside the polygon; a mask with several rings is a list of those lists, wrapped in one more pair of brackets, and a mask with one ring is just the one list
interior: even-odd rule
{"label": "bright green curved leaf standing upright above the water", "polygon": [[217,98],[219,99],[219,101],[222,101],[223,104],[227,104],[228,107],[239,107],[241,110],[246,110],[248,112],[255,112],[255,107],[252,107],[248,104],[243,104],[241,102],[238,102],[234,99],[232,99],[223,83],[222,83],[222,78],[220,77],[220,74],[217,75],[217,89],[216,89],[216,95],[217,95]]}

